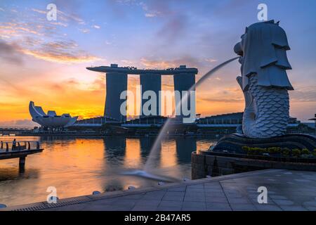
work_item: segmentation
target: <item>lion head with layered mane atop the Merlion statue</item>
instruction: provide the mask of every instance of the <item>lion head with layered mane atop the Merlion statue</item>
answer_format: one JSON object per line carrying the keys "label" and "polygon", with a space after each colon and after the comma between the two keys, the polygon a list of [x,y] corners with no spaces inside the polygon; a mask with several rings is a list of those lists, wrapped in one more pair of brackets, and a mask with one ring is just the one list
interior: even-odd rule
{"label": "lion head with layered mane atop the Merlion statue", "polygon": [[274,20],[254,23],[246,27],[242,41],[234,47],[241,56],[242,89],[249,87],[249,77],[258,75],[258,85],[293,90],[287,77],[291,65],[287,59],[287,34]]}

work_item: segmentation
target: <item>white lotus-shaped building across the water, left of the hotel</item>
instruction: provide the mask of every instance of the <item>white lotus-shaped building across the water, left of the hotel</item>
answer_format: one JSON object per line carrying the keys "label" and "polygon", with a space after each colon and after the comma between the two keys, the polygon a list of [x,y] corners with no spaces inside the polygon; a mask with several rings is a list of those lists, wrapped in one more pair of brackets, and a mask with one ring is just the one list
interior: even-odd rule
{"label": "white lotus-shaped building across the water, left of the hotel", "polygon": [[46,114],[41,106],[35,106],[32,101],[29,102],[29,114],[34,122],[42,127],[50,128],[70,127],[78,119],[78,117],[71,117],[68,113],[56,115],[55,111],[48,111]]}

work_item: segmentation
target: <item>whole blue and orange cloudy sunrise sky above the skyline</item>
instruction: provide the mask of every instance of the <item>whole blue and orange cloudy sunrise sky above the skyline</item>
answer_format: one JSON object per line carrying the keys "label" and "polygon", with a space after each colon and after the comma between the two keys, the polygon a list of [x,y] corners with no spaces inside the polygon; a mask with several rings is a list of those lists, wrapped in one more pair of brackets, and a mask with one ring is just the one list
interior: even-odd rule
{"label": "whole blue and orange cloudy sunrise sky above the skyline", "polygon": [[[46,6],[57,6],[56,21]],[[44,110],[81,118],[103,115],[105,75],[91,65],[168,68],[205,72],[235,56],[233,46],[247,25],[258,22],[257,6],[287,32],[295,88],[292,117],[316,113],[316,1],[0,1],[0,126],[32,125],[29,101]],[[241,112],[244,98],[235,77],[239,63],[223,68],[197,89],[202,116]],[[163,77],[162,89],[173,89]],[[137,75],[129,76],[136,90]]]}

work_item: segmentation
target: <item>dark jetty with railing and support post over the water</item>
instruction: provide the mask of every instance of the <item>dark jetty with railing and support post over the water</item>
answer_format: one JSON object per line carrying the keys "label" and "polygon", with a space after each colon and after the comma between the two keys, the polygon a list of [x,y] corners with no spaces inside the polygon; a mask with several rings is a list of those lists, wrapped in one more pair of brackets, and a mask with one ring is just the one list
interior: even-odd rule
{"label": "dark jetty with railing and support post over the water", "polygon": [[19,158],[19,172],[25,171],[27,155],[42,151],[39,141],[0,141],[0,160]]}

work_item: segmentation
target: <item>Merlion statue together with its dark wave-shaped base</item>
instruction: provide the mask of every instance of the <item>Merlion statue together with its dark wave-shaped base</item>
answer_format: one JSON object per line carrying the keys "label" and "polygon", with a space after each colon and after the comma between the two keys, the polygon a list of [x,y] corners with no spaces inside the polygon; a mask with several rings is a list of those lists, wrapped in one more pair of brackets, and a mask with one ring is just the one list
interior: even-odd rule
{"label": "Merlion statue together with its dark wave-shaped base", "polygon": [[287,34],[279,23],[270,20],[246,27],[242,41],[234,48],[242,64],[242,76],[237,77],[237,82],[246,102],[244,135],[225,135],[211,151],[248,154],[244,147],[307,148],[310,152],[316,148],[315,136],[285,134],[289,122],[288,91],[293,90],[287,77],[287,70],[291,70],[289,49]]}

